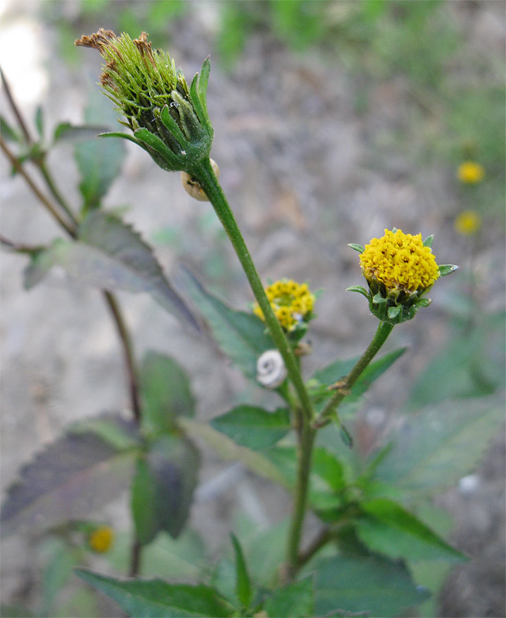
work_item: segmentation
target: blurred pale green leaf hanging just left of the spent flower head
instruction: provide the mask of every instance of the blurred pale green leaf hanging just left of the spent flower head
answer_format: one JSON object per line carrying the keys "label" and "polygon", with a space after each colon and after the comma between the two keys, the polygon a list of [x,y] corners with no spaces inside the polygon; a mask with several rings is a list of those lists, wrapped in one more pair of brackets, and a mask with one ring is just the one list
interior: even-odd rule
{"label": "blurred pale green leaf hanging just left of the spent flower head", "polygon": [[[93,97],[84,111],[84,121],[91,125],[108,122],[111,113],[100,104],[102,100],[99,103],[95,95]],[[62,135],[65,135],[65,129],[60,129],[59,137]],[[80,173],[79,190],[84,214],[100,207],[102,198],[121,171],[125,155],[125,145],[117,139],[93,139],[76,144],[74,158]]]}

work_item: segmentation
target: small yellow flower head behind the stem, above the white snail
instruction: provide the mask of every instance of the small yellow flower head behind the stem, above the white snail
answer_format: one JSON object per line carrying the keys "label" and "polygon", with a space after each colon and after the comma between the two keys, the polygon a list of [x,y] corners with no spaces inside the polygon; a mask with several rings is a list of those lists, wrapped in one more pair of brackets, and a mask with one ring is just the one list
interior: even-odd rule
{"label": "small yellow flower head behind the stem, above the white snail", "polygon": [[[292,332],[297,325],[309,319],[314,305],[314,295],[310,292],[308,284],[282,279],[265,288],[265,293],[277,321],[286,332]],[[264,320],[262,309],[257,304],[253,307],[253,313]]]}

